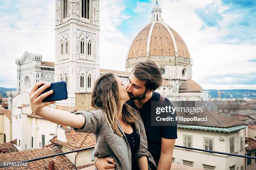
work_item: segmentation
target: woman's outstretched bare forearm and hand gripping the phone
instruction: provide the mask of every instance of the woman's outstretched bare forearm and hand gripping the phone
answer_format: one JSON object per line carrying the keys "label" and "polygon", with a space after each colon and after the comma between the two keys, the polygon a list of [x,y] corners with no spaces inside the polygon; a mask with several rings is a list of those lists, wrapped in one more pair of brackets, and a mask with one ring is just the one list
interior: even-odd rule
{"label": "woman's outstretched bare forearm and hand gripping the phone", "polygon": [[[35,115],[41,116],[46,120],[49,120],[59,125],[71,126],[74,128],[82,128],[85,122],[85,118],[83,115],[81,114],[74,115],[73,113],[70,113],[64,110],[58,110],[58,109],[46,107],[47,105],[55,103],[55,101],[42,102],[42,100],[45,97],[53,93],[53,91],[51,90],[44,94],[41,94],[45,89],[51,86],[50,83],[47,83],[47,84],[46,83],[47,82],[37,82],[35,85],[33,85],[31,92],[29,93],[30,106],[31,106],[32,112]],[[43,85],[43,86],[38,88],[40,85]]]}

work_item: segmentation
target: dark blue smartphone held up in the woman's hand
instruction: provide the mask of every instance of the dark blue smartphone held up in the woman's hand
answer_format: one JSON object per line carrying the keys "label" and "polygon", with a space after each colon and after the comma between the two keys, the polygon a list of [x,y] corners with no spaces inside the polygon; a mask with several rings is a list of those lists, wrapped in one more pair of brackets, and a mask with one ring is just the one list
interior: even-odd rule
{"label": "dark blue smartphone held up in the woman's hand", "polygon": [[[43,85],[41,85],[41,86],[43,86]],[[40,87],[38,87],[38,88],[40,88]],[[43,94],[45,92],[48,92],[50,90],[54,90],[54,92],[51,95],[45,97],[43,99],[43,102],[65,100],[65,99],[68,98],[68,95],[67,95],[67,83],[65,81],[52,82],[51,86],[48,87],[46,90],[44,90],[41,94]]]}

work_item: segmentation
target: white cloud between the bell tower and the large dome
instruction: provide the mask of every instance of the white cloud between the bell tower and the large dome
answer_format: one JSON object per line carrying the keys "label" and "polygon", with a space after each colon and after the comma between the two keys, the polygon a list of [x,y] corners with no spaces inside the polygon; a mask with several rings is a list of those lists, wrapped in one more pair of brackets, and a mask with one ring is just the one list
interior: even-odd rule
{"label": "white cloud between the bell tower and the large dome", "polygon": [[131,16],[124,15],[124,0],[100,2],[100,67],[125,70],[125,59],[130,37],[117,29]]}

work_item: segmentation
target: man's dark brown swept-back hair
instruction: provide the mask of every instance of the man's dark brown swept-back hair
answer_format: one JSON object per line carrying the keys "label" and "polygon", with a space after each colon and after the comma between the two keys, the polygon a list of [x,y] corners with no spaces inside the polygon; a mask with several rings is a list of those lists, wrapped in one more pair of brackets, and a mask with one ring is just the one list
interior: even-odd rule
{"label": "man's dark brown swept-back hair", "polygon": [[162,72],[156,63],[152,60],[139,62],[135,65],[132,72],[137,79],[146,81],[145,86],[149,90],[155,91],[162,85]]}

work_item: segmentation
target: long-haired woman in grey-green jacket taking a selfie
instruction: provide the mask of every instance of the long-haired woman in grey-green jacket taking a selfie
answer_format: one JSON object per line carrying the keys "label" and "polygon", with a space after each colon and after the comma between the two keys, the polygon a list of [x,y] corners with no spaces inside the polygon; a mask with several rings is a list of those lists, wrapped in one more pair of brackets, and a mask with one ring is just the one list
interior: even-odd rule
{"label": "long-haired woman in grey-green jacket taking a selfie", "polygon": [[[96,110],[74,114],[45,107],[54,103],[42,102],[53,93],[51,90],[41,94],[50,87],[50,84],[45,83],[36,83],[29,94],[35,115],[59,125],[70,126],[76,132],[95,133],[95,157],[113,158],[115,169],[148,170],[148,160],[152,161],[153,158],[148,154],[143,122],[138,112],[125,103],[130,97],[119,77],[112,73],[100,76],[92,91],[91,106]],[[43,86],[38,88],[40,85]]]}

